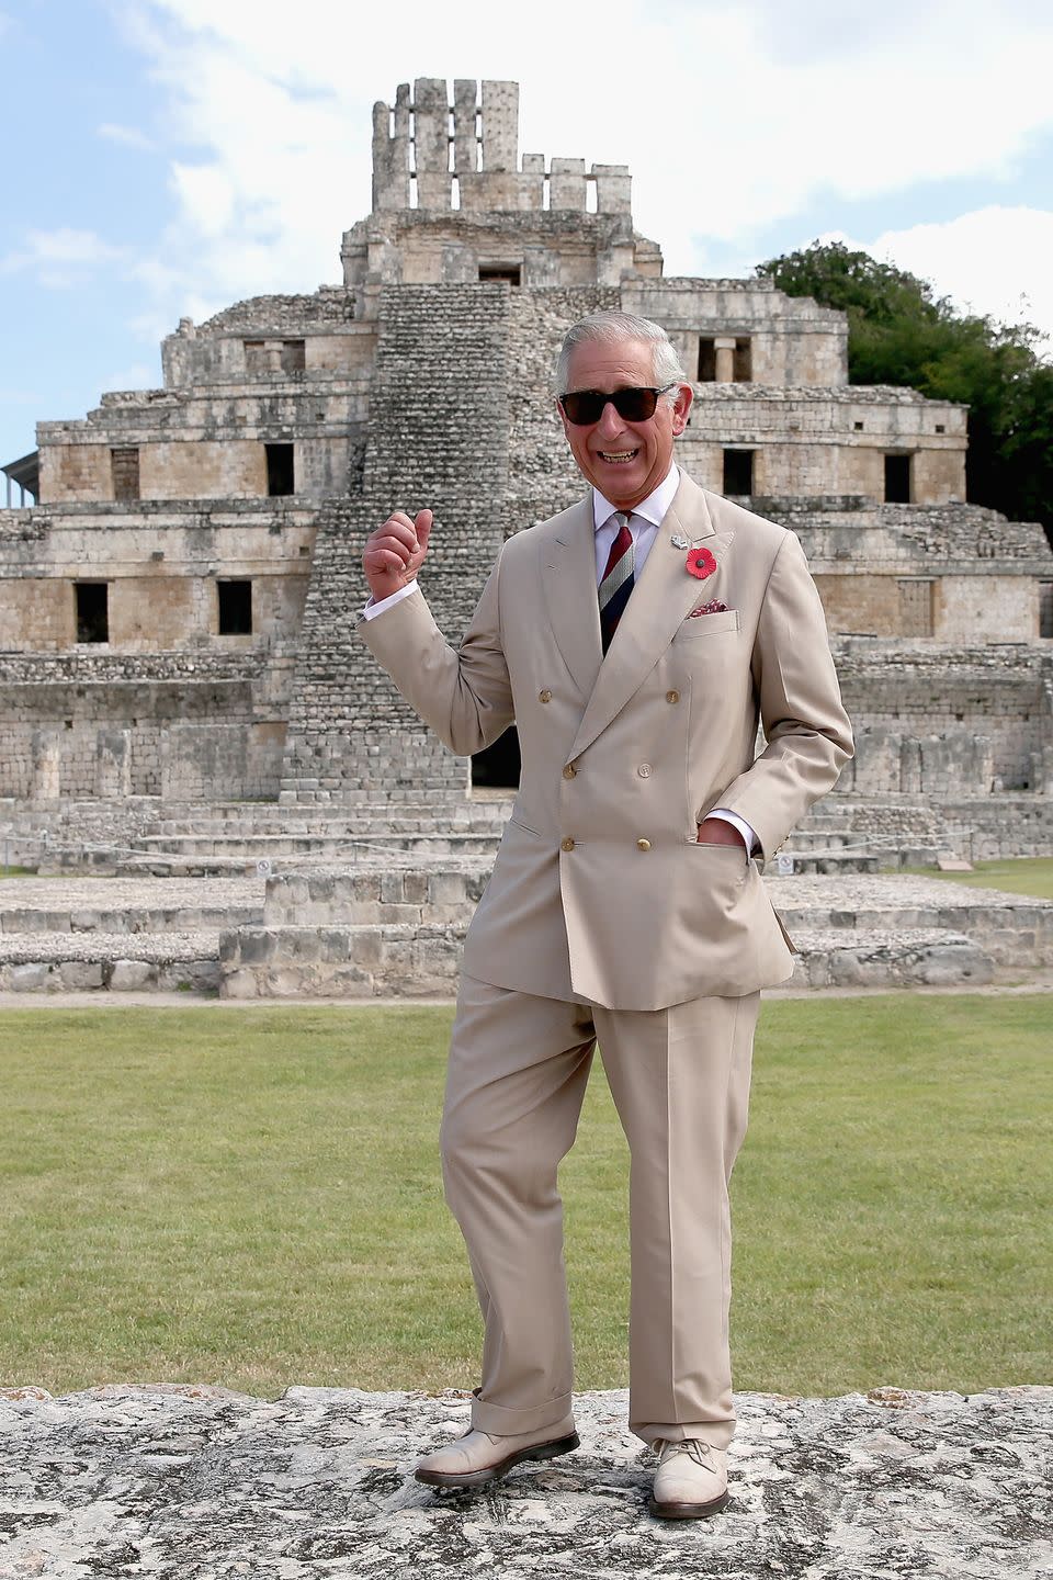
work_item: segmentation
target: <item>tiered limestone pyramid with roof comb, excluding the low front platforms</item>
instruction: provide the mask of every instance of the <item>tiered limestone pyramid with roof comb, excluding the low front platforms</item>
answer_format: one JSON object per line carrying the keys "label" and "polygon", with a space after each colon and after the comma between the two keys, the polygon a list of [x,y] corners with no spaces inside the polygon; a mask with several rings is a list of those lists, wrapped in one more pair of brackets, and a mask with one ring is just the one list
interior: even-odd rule
{"label": "tiered limestone pyramid with roof comb, excluding the low front platforms", "polygon": [[[518,87],[398,88],[343,281],[183,319],[164,389],[41,422],[0,510],[0,796],[368,807],[510,785],[428,736],[354,638],[362,540],[434,507],[453,638],[502,539],[581,493],[551,395],[567,325],[663,324],[679,460],[799,532],[859,755],[840,793],[1053,850],[1053,556],[965,504],[966,411],[848,384],[846,319],[767,280],[663,275],[624,166],[518,152]],[[704,216],[699,216],[699,224]]]}

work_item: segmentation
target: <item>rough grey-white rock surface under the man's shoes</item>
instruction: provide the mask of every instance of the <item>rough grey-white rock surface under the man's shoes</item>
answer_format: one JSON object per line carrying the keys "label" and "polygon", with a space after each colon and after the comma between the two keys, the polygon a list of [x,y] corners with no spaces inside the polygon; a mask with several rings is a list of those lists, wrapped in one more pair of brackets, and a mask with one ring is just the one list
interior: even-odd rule
{"label": "rough grey-white rock surface under the man's shoes", "polygon": [[647,1515],[654,1460],[625,1406],[579,1395],[576,1454],[452,1496],[412,1469],[464,1430],[464,1395],[6,1390],[0,1580],[1053,1574],[1053,1389],[740,1395],[733,1503],[684,1523]]}

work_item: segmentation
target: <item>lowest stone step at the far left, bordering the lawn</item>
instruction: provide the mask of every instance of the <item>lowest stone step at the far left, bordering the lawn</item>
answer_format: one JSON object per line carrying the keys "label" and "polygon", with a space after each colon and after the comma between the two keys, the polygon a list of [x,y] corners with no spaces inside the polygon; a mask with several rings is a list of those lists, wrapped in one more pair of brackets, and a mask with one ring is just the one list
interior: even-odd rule
{"label": "lowest stone step at the far left, bordering the lawn", "polygon": [[215,992],[218,988],[216,931],[0,935],[3,992]]}

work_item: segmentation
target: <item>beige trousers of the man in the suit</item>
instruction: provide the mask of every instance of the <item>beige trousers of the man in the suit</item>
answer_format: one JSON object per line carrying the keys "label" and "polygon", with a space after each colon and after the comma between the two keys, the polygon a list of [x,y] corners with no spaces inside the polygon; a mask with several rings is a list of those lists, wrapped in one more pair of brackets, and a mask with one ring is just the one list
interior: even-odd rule
{"label": "beige trousers of the man in the suit", "polygon": [[631,1153],[630,1427],[646,1443],[726,1447],[728,1179],[747,1127],[758,1005],[750,994],[603,1010],[463,978],[442,1172],[483,1311],[472,1425],[515,1435],[571,1411],[556,1172],[598,1040]]}

